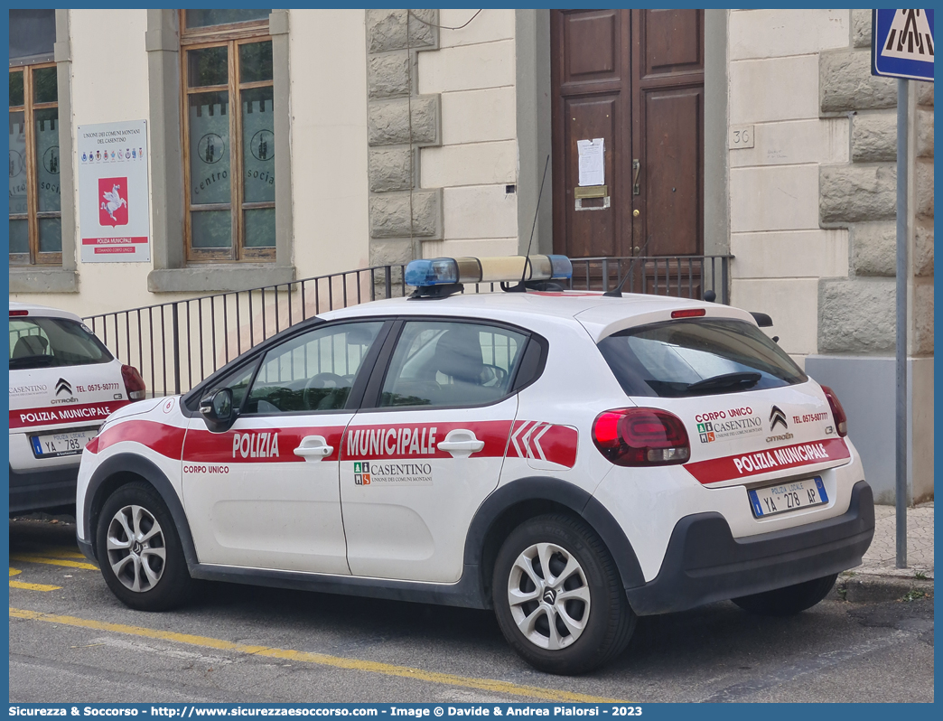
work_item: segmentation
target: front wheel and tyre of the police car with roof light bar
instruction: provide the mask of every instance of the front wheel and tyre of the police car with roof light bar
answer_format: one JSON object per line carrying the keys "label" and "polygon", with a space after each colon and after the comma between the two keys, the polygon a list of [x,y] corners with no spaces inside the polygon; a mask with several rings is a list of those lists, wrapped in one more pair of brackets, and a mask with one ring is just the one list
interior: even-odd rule
{"label": "front wheel and tyre of the police car with roof light bar", "polygon": [[128,483],[110,495],[95,538],[102,576],[124,605],[165,611],[190,598],[193,581],[174,519],[149,484]]}

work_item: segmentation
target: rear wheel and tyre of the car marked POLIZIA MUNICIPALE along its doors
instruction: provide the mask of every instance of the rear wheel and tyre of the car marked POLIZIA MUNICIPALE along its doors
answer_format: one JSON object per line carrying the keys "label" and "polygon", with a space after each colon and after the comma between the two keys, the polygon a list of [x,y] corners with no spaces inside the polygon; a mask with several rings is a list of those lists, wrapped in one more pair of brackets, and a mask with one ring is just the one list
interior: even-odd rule
{"label": "rear wheel and tyre of the car marked POLIZIA MUNICIPALE along its doors", "polygon": [[592,528],[567,515],[541,515],[515,528],[498,552],[491,589],[508,644],[547,673],[575,675],[603,665],[620,654],[636,626],[608,549]]}

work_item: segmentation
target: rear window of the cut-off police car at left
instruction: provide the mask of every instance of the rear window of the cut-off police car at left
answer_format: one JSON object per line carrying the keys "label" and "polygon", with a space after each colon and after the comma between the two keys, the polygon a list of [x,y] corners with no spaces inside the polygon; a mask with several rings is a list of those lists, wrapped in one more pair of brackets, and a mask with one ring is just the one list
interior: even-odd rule
{"label": "rear window of the cut-off police car at left", "polygon": [[10,318],[9,369],[58,368],[112,360],[88,328],[68,318]]}

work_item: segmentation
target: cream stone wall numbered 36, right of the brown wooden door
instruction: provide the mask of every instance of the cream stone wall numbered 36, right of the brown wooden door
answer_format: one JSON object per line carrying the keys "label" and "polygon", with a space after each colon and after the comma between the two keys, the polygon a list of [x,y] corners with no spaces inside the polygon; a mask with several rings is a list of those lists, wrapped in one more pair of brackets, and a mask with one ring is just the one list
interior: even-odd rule
{"label": "cream stone wall numbered 36, right of the brown wooden door", "polygon": [[[870,10],[726,12],[732,303],[832,386],[894,500],[897,81],[870,74]],[[708,45],[709,47],[709,45]],[[934,88],[911,83],[909,487],[933,497]],[[710,92],[709,89],[707,92]]]}

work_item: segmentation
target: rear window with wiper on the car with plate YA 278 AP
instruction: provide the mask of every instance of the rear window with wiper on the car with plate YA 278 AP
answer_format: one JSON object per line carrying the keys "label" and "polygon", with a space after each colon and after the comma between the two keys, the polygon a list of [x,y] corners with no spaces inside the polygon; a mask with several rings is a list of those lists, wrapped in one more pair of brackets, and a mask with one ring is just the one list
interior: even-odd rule
{"label": "rear window with wiper on the car with plate YA 278 AP", "polygon": [[762,330],[734,319],[633,327],[604,338],[599,349],[628,395],[682,398],[808,379]]}

